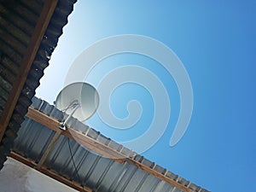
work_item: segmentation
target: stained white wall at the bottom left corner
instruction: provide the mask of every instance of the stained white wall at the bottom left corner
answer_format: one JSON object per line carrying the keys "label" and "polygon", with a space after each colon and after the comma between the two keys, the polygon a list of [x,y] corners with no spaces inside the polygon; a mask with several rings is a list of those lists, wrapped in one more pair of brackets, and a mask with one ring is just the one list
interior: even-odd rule
{"label": "stained white wall at the bottom left corner", "polygon": [[17,160],[8,158],[0,171],[0,192],[76,192]]}

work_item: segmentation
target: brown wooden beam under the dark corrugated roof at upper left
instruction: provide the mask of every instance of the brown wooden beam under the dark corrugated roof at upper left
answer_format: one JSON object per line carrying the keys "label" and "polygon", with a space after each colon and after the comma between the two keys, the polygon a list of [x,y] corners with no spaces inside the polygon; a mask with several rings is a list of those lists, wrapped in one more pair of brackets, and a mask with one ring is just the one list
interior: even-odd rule
{"label": "brown wooden beam under the dark corrugated roof at upper left", "polygon": [[49,20],[54,13],[56,4],[58,0],[46,0],[44,3],[44,8],[42,9],[41,15],[38,18],[37,25],[35,26],[34,32],[32,33],[32,38],[26,49],[26,53],[23,60],[20,63],[19,73],[15,79],[12,90],[10,90],[7,102],[3,108],[3,113],[0,118],[0,141],[2,141],[4,132],[7,125],[9,124],[9,119],[11,118],[15,105],[19,99],[20,92],[26,82],[27,75],[32,66],[32,62],[37,55],[38,48],[44,37],[44,33],[49,25]]}

